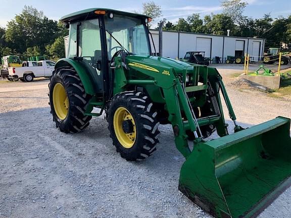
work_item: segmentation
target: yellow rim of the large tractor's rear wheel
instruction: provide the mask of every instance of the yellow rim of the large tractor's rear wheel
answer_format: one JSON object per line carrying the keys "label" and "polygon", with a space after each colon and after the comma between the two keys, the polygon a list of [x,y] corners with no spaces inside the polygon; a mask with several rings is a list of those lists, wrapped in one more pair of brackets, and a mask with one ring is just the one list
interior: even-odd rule
{"label": "yellow rim of the large tractor's rear wheel", "polygon": [[58,118],[65,120],[69,112],[69,98],[65,87],[61,83],[54,86],[53,103]]}

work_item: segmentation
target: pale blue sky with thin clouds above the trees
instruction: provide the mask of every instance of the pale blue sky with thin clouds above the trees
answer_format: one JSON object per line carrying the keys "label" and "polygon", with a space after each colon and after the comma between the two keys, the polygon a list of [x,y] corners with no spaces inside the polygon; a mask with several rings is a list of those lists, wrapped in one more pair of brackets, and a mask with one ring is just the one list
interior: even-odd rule
{"label": "pale blue sky with thin clouds above the trees", "polygon": [[[44,15],[50,19],[59,20],[62,16],[72,12],[88,8],[111,8],[128,12],[142,12],[142,3],[151,0],[122,0],[122,1],[93,1],[93,0],[0,0],[0,26],[6,27],[7,22],[20,14],[24,5],[33,6],[37,10],[43,11]],[[162,8],[162,18],[166,18],[172,23],[176,23],[178,18],[186,18],[193,13],[199,13],[201,17],[207,14],[218,14],[220,0],[154,0]],[[273,18],[278,16],[287,17],[291,15],[290,0],[245,0],[249,5],[245,9],[245,16],[261,18],[264,14],[270,13]],[[154,24],[155,25],[155,24]]]}

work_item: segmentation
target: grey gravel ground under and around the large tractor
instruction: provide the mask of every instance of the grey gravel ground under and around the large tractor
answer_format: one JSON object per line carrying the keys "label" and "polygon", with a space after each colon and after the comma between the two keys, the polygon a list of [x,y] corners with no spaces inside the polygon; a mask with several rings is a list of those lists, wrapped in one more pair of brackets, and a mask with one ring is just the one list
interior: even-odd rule
{"label": "grey gravel ground under and around the large tractor", "polygon": [[[235,80],[230,72],[219,71],[240,125],[290,117],[290,101],[230,86]],[[48,82],[0,83],[1,218],[211,217],[177,189],[184,158],[169,125],[160,126],[153,156],[125,161],[112,145],[104,117],[93,118],[79,134],[55,128]],[[290,194],[289,188],[260,217],[289,217]]]}

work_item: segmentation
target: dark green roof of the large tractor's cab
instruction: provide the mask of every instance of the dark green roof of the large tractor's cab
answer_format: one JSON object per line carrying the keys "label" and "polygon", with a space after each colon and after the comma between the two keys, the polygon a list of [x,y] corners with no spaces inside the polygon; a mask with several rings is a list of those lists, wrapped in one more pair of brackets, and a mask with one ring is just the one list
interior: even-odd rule
{"label": "dark green roof of the large tractor's cab", "polygon": [[123,11],[118,11],[118,10],[114,10],[114,9],[91,8],[91,9],[85,9],[82,11],[68,14],[68,15],[62,17],[60,20],[63,23],[70,23],[70,22],[74,22],[74,21],[88,19],[91,17],[98,16],[97,14],[94,13],[95,11],[105,11],[106,14],[113,13],[113,14],[123,15],[123,16],[127,16],[127,17],[135,17],[135,18],[143,18],[143,19],[150,18],[147,15],[135,14],[135,13],[130,13],[130,12],[123,12]]}

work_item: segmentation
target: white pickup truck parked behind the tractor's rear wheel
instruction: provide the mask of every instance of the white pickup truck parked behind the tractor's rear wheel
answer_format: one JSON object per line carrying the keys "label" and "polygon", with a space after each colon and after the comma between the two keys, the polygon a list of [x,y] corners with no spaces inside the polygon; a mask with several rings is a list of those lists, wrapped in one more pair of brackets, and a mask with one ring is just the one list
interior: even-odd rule
{"label": "white pickup truck parked behind the tractor's rear wheel", "polygon": [[20,79],[23,82],[31,82],[35,77],[51,77],[55,70],[55,62],[52,61],[39,61],[37,66],[30,67],[28,63],[22,65],[23,67],[10,67],[8,68],[8,80],[17,81]]}

